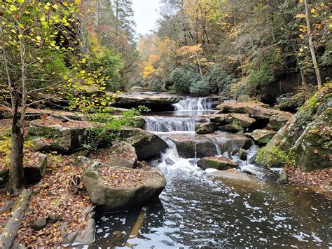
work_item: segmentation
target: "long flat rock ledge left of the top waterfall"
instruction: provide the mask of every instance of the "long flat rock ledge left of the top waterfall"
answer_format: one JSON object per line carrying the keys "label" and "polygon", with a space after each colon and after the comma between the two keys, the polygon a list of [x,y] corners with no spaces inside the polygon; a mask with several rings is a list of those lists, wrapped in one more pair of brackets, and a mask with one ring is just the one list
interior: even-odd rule
{"label": "long flat rock ledge left of the top waterfall", "polygon": [[173,110],[172,104],[179,102],[180,97],[165,95],[123,95],[115,98],[113,107],[132,108],[144,105],[153,111]]}

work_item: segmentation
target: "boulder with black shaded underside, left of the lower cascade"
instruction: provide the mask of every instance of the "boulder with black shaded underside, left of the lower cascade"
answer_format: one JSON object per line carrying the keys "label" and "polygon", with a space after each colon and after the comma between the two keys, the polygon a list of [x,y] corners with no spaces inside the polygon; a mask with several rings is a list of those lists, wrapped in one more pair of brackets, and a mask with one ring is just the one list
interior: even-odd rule
{"label": "boulder with black shaded underside, left of the lower cascade", "polygon": [[168,148],[167,143],[158,135],[139,128],[123,128],[120,130],[120,140],[135,148],[138,159],[145,160],[158,156]]}

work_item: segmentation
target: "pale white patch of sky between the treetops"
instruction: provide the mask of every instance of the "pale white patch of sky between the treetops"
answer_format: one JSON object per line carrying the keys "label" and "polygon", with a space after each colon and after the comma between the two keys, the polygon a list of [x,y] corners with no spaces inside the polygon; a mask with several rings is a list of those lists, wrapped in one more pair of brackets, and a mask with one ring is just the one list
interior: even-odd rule
{"label": "pale white patch of sky between the treetops", "polygon": [[137,34],[147,34],[158,20],[159,0],[133,0]]}

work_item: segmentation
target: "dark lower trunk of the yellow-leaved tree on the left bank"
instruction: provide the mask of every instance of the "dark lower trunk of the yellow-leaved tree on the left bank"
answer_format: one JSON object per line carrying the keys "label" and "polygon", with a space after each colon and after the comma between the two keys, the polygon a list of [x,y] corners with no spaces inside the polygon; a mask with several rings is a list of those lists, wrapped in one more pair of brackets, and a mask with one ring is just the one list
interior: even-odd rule
{"label": "dark lower trunk of the yellow-leaved tree on the left bank", "polygon": [[18,119],[18,105],[20,98],[15,96],[15,109],[13,116],[13,126],[11,130],[11,186],[10,190],[18,194],[25,184],[25,175],[23,173],[23,142],[24,130],[22,122]]}

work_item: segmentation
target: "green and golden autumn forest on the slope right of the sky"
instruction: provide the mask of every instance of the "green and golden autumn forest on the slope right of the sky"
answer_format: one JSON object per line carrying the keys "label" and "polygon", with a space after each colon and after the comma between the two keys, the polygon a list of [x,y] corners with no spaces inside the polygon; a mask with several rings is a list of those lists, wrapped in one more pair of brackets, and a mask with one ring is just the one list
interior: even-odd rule
{"label": "green and golden autumn forest on the slope right of the sky", "polygon": [[307,8],[310,26],[302,0],[162,0],[158,30],[139,41],[141,86],[262,97],[284,74],[317,84],[309,40],[331,69],[331,4]]}

